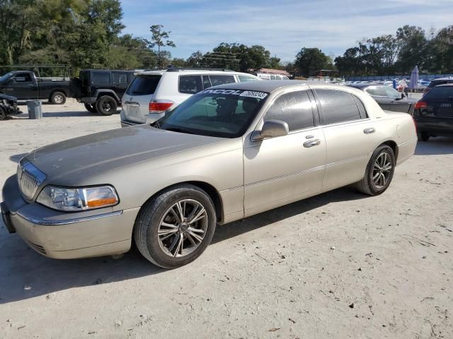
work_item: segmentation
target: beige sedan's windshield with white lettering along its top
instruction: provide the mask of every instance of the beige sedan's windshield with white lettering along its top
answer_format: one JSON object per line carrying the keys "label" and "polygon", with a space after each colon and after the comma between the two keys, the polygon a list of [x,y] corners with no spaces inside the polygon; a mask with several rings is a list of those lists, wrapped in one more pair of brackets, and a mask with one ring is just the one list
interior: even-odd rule
{"label": "beige sedan's windshield with white lettering along its top", "polygon": [[166,112],[159,127],[167,131],[237,138],[245,133],[268,93],[202,90]]}

